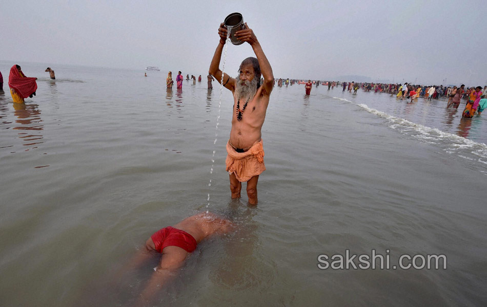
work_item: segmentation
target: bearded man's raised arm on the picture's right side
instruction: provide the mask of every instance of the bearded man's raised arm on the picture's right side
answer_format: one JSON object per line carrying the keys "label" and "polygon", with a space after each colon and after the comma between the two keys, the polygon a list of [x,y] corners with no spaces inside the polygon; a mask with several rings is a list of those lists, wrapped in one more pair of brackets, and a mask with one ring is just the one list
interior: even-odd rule
{"label": "bearded man's raised arm on the picture's right side", "polygon": [[260,72],[264,78],[264,83],[262,84],[262,95],[269,95],[271,94],[274,86],[274,74],[272,73],[271,64],[262,51],[262,47],[260,47],[260,43],[257,40],[254,31],[247,26],[247,23],[245,23],[245,27],[245,30],[235,32],[235,36],[240,40],[247,41],[250,43],[250,46],[252,46],[255,56],[259,61]]}

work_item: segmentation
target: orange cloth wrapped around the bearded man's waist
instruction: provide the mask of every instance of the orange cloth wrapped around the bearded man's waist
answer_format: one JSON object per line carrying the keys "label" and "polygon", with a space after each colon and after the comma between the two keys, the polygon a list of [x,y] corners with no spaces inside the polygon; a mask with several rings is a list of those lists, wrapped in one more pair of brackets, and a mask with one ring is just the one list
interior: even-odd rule
{"label": "orange cloth wrapped around the bearded man's waist", "polygon": [[234,173],[240,182],[247,182],[266,170],[262,140],[252,145],[246,152],[235,151],[229,141],[227,142],[227,153],[225,160],[227,171]]}

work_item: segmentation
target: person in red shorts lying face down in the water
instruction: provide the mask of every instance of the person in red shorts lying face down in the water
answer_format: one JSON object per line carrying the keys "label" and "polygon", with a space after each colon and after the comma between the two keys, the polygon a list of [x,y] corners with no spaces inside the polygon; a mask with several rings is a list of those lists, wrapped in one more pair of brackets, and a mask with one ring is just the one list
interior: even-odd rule
{"label": "person in red shorts lying face down in the water", "polygon": [[159,265],[154,268],[145,289],[140,295],[139,305],[150,301],[157,290],[175,276],[185,259],[198,243],[212,235],[225,234],[234,230],[234,225],[226,218],[214,213],[199,213],[185,218],[174,226],[156,231],[132,262],[133,266],[141,265],[154,252],[161,253]]}

